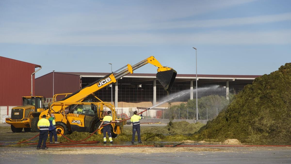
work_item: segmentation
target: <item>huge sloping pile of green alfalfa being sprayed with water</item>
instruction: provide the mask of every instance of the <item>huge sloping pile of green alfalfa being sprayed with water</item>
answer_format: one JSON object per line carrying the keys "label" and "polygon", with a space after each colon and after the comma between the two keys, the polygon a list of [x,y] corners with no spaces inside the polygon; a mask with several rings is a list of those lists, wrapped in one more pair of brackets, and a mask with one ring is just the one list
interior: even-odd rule
{"label": "huge sloping pile of green alfalfa being sprayed with water", "polygon": [[291,63],[255,78],[193,139],[291,143]]}

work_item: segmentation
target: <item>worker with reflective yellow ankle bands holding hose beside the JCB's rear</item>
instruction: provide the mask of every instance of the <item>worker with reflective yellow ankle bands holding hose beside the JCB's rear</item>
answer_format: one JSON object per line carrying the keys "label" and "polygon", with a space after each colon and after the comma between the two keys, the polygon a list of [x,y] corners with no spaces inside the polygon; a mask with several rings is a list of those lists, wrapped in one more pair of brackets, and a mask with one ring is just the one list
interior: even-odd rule
{"label": "worker with reflective yellow ankle bands holding hose beside the JCB's rear", "polygon": [[[100,126],[103,125],[104,123],[104,127],[103,127],[103,141],[104,144],[106,144],[106,132],[108,134],[109,137],[109,141],[111,144],[113,144],[112,141],[112,136],[111,136],[111,125],[109,123],[119,123],[119,121],[113,121],[113,118],[110,116],[111,111],[107,111],[107,116],[104,116],[103,121],[101,122]],[[109,124],[109,125],[106,125]],[[100,129],[100,126],[98,127],[98,129]]]}

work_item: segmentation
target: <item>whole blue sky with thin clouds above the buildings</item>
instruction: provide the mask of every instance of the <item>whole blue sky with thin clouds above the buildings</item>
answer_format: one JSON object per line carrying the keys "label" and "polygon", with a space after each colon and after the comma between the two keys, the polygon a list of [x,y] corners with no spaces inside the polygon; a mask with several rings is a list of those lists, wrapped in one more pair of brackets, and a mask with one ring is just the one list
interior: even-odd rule
{"label": "whole blue sky with thin clouds above the buildings", "polygon": [[[178,74],[262,75],[291,62],[291,1],[0,1],[0,56],[109,72],[155,56]],[[146,65],[136,73],[156,73]]]}

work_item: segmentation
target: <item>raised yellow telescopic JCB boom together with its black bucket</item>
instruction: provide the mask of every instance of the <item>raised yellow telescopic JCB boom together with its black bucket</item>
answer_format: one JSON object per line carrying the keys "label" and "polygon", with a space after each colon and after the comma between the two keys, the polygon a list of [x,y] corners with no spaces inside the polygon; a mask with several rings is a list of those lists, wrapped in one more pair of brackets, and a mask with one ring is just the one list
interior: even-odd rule
{"label": "raised yellow telescopic JCB boom together with its black bucket", "polygon": [[[130,64],[127,64],[126,66],[118,69],[114,73],[108,74],[97,81],[94,81],[93,83],[89,84],[88,86],[72,93],[71,95],[68,95],[67,97],[64,97],[59,102],[81,102],[83,101],[87,96],[91,95],[92,93],[97,92],[98,90],[109,86],[111,83],[116,83],[116,80],[122,78],[123,76],[127,74],[132,74],[134,70],[138,69],[139,67],[144,66],[145,64],[152,64],[158,67],[157,71],[157,78],[160,81],[160,83],[163,85],[165,90],[171,90],[173,86],[173,82],[175,80],[175,77],[177,75],[177,72],[170,68],[170,67],[163,67],[162,64],[159,63],[158,60],[155,59],[155,57],[151,56],[147,59],[134,64],[131,66]],[[58,111],[58,106],[54,107],[54,111]],[[61,109],[61,107],[60,107]]]}

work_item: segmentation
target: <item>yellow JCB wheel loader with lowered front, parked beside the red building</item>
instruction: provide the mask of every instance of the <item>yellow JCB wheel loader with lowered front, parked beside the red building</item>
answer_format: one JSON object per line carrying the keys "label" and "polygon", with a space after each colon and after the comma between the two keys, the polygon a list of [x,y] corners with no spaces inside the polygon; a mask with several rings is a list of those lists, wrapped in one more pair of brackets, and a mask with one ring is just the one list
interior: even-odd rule
{"label": "yellow JCB wheel loader with lowered front, parked beside the red building", "polygon": [[40,113],[45,110],[45,97],[23,96],[22,106],[11,109],[11,117],[6,118],[12,132],[39,132],[37,123]]}

